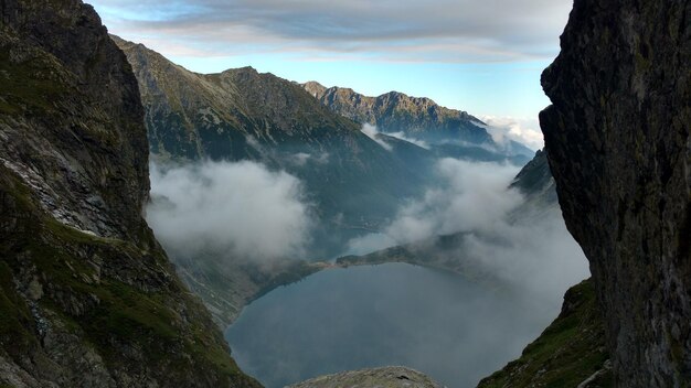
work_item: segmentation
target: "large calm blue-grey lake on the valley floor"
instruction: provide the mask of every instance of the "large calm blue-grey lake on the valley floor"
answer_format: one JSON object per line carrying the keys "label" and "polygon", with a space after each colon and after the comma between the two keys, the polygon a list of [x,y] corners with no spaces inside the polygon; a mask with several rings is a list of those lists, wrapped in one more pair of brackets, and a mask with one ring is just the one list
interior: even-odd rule
{"label": "large calm blue-grey lake on the valley floor", "polygon": [[386,365],[463,388],[540,334],[548,322],[531,309],[457,274],[403,263],[351,267],[272,291],[225,336],[241,368],[267,388]]}

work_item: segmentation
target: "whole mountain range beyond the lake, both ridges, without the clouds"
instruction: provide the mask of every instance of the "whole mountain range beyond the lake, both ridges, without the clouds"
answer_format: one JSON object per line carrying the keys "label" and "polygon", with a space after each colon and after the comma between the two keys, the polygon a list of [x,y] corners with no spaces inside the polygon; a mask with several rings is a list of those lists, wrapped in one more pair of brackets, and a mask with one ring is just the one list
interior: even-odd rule
{"label": "whole mountain range beyond the lake, both ridges, without the clouds", "polygon": [[[248,160],[300,179],[319,223],[300,259],[337,256],[353,237],[387,225],[405,201],[435,182],[439,158],[524,163],[533,154],[522,146],[511,146],[514,152],[496,143],[477,118],[426,98],[363,97],[251,67],[203,75],[141,44],[113,39],[138,79],[157,163]],[[338,103],[349,99],[360,103]],[[325,105],[328,100],[334,104]],[[362,131],[365,122],[380,132]],[[258,266],[246,258],[231,258],[228,265],[214,255],[169,254],[221,324],[262,293],[326,266],[311,260]]]}

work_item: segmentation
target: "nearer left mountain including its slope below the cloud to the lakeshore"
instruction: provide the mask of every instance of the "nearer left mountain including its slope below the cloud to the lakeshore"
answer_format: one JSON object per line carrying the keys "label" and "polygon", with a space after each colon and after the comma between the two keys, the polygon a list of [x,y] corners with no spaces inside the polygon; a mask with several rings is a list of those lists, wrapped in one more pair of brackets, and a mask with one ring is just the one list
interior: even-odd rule
{"label": "nearer left mountain including its slope below the cloud to the lakeshore", "polygon": [[[114,40],[139,82],[152,158],[162,165],[249,160],[299,177],[319,224],[308,258],[340,252],[353,236],[385,225],[429,181],[427,150],[387,137],[378,139],[383,147],[295,83],[251,67],[196,74],[143,45]],[[221,325],[267,290],[322,266],[169,254]]]}

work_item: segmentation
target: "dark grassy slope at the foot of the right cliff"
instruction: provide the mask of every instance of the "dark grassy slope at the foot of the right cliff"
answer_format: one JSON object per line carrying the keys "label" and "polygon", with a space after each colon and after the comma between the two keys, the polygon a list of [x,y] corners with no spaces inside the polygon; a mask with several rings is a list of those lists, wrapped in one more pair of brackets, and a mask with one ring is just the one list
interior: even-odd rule
{"label": "dark grassy slope at the foot of the right cliff", "polygon": [[559,317],[519,359],[478,385],[500,387],[613,387],[605,324],[592,280],[566,292]]}

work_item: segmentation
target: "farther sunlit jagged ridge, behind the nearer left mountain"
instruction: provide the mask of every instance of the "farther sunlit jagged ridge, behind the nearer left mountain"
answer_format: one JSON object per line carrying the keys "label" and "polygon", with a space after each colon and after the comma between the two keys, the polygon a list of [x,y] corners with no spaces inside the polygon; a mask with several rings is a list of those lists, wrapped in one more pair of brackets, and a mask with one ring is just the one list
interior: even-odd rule
{"label": "farther sunlit jagged ridge, behind the nearer left mountain", "polygon": [[509,160],[523,165],[534,153],[512,140],[498,144],[481,120],[465,111],[442,107],[429,98],[397,91],[368,97],[350,88],[327,88],[316,82],[302,84],[302,87],[332,111],[375,126],[383,133],[424,142],[440,158]]}

